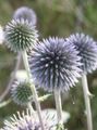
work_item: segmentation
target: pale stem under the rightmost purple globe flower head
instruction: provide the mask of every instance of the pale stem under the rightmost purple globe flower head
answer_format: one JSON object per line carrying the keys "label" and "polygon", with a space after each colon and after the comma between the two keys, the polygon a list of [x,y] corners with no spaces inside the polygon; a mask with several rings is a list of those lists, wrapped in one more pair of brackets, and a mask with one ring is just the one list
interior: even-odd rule
{"label": "pale stem under the rightmost purple globe flower head", "polygon": [[86,106],[86,116],[87,116],[87,128],[88,130],[93,130],[93,121],[92,121],[92,109],[90,109],[90,99],[89,99],[89,90],[87,84],[87,77],[85,74],[82,76],[82,84],[84,91],[84,100]]}

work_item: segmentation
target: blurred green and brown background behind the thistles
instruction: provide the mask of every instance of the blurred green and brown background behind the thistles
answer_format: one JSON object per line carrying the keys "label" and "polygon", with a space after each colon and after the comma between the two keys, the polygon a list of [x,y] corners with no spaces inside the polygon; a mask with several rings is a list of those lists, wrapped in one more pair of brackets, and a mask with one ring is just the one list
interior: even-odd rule
{"label": "blurred green and brown background behind the thistles", "polygon": [[[5,26],[11,21],[13,12],[20,6],[29,6],[37,14],[39,38],[48,36],[69,37],[75,31],[83,31],[97,39],[97,0],[0,0],[0,24]],[[0,46],[0,94],[5,90],[15,66],[16,54]],[[97,70],[88,75],[92,99],[94,130],[97,130]],[[8,99],[10,94],[5,98]],[[65,125],[68,130],[86,130],[85,106],[81,83],[69,93],[63,93],[63,109],[71,114]],[[41,104],[54,107],[53,99]],[[0,108],[0,127],[4,118],[23,107],[11,102]]]}

